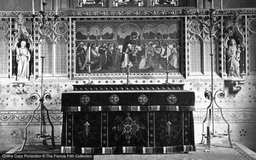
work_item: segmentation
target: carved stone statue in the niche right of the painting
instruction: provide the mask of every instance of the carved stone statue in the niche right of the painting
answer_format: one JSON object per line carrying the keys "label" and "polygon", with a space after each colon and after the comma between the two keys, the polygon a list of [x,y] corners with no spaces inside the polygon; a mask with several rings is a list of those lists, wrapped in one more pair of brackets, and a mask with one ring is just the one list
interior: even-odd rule
{"label": "carved stone statue in the niche right of the painting", "polygon": [[237,46],[235,39],[230,39],[229,46],[227,48],[227,69],[229,75],[227,77],[239,77],[240,78],[240,45]]}

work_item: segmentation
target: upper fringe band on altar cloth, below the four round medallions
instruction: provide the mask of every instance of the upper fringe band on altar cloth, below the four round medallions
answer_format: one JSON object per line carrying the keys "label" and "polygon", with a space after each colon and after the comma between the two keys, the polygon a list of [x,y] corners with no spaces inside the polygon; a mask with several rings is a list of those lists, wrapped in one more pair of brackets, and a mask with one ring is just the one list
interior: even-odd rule
{"label": "upper fringe band on altar cloth, below the four round medallions", "polygon": [[61,111],[195,111],[195,106],[74,106],[61,107]]}

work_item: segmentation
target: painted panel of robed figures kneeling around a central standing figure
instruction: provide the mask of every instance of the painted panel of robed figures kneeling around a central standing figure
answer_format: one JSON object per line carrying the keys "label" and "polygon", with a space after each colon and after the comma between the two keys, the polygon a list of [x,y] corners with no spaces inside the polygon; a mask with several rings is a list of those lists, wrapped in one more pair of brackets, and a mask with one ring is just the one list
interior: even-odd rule
{"label": "painted panel of robed figures kneeling around a central standing figure", "polygon": [[76,73],[180,72],[182,20],[75,20]]}

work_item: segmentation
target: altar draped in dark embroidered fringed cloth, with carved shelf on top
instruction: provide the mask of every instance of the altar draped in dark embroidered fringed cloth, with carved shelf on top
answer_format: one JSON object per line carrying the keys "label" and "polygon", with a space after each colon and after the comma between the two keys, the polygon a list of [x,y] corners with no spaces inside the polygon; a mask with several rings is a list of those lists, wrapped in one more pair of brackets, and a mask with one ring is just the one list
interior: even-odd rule
{"label": "altar draped in dark embroidered fringed cloth, with carved shelf on top", "polygon": [[195,93],[182,84],[73,87],[61,98],[61,153],[196,151]]}

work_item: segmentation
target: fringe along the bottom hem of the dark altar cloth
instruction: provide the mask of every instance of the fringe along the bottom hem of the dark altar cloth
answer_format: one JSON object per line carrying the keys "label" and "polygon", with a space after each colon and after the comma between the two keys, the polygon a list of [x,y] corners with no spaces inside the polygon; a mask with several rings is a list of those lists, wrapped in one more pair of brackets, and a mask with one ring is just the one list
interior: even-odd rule
{"label": "fringe along the bottom hem of the dark altar cloth", "polygon": [[169,154],[176,152],[196,151],[194,145],[165,146],[165,147],[74,147],[61,146],[61,153],[82,153],[82,154]]}

